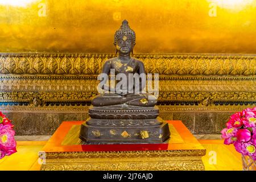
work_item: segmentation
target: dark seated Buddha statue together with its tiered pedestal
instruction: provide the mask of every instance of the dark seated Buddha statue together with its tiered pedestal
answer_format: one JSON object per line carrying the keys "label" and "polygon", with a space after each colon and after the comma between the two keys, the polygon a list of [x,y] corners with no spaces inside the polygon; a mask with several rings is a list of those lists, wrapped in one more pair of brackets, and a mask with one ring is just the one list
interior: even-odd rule
{"label": "dark seated Buddha statue together with its tiered pedestal", "polygon": [[163,143],[170,138],[168,123],[158,117],[156,97],[144,92],[145,68],[131,57],[135,32],[126,20],[115,32],[114,45],[118,56],[102,67],[100,94],[92,99],[79,138],[86,144]]}

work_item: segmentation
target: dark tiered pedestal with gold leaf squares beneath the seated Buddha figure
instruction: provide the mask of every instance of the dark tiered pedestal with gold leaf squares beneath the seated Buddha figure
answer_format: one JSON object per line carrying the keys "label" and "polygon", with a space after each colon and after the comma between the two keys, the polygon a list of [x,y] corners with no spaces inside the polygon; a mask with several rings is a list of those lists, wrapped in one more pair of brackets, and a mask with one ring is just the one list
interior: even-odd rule
{"label": "dark tiered pedestal with gold leaf squares beneath the seated Buddha figure", "polygon": [[163,143],[170,138],[168,124],[158,117],[158,107],[90,107],[79,138],[88,144]]}

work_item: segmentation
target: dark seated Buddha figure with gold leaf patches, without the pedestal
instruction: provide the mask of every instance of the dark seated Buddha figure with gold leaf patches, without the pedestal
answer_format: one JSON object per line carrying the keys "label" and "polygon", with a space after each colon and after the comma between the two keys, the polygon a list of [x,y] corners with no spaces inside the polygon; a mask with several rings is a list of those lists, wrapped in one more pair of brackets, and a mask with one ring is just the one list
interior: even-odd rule
{"label": "dark seated Buddha figure with gold leaf patches, without the pedestal", "polygon": [[[105,78],[102,80],[101,85],[105,91],[111,91],[109,85],[106,85],[106,80],[110,75],[110,71],[114,70],[114,74],[118,75],[123,73],[127,78],[127,84],[134,82],[129,79],[129,74],[138,74],[141,76],[139,82],[133,83],[131,86],[121,86],[121,89],[115,90],[112,93],[101,93],[94,97],[92,100],[93,106],[141,106],[141,107],[154,107],[156,105],[156,98],[146,92],[142,92],[146,86],[146,72],[142,61],[131,57],[133,48],[135,46],[135,32],[129,27],[127,20],[123,20],[119,30],[114,35],[114,46],[117,49],[118,56],[106,60],[102,73]],[[121,81],[121,80],[120,80]],[[118,81],[116,82],[118,84]],[[136,90],[136,91],[135,91]]]}

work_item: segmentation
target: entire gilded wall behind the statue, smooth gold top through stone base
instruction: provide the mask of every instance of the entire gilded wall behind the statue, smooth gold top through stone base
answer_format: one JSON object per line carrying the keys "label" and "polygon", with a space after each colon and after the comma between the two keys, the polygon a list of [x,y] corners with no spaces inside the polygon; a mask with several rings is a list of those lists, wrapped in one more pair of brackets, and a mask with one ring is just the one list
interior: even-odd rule
{"label": "entire gilded wall behind the statue, smooth gold top through stone base", "polygon": [[0,1],[0,110],[19,135],[85,120],[127,19],[134,56],[160,75],[160,117],[218,134],[231,113],[255,106],[255,10],[254,0]]}

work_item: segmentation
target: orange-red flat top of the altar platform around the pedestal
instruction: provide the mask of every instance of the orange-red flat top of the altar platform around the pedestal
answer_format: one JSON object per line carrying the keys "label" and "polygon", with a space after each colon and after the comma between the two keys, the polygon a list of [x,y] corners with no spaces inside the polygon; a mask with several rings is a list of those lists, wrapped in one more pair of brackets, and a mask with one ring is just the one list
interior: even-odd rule
{"label": "orange-red flat top of the altar platform around the pedestal", "polygon": [[[48,140],[43,151],[46,152],[93,152],[93,151],[145,151],[145,150],[205,150],[181,121],[167,121],[170,125],[171,139],[162,144],[63,144],[73,126],[82,121],[63,122]],[[72,143],[72,142],[70,142]],[[74,143],[77,143],[75,141]]]}

